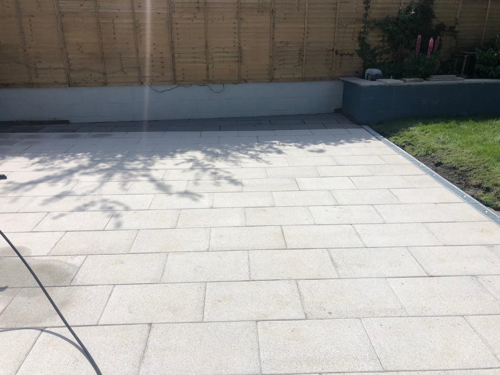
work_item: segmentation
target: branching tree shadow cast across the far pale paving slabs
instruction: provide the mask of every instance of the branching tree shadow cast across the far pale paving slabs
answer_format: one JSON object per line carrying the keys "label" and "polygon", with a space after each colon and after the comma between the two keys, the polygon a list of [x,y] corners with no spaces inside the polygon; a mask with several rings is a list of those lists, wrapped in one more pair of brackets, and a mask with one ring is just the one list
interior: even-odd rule
{"label": "branching tree shadow cast across the far pale paving slabs", "polygon": [[[132,210],[133,206],[127,201],[130,194],[151,195],[151,199],[154,194],[182,194],[184,198],[198,201],[203,193],[217,191],[222,185],[229,185],[227,191],[241,191],[238,187],[242,178],[236,177],[234,168],[239,168],[243,159],[251,159],[255,167],[266,167],[272,165],[269,158],[294,156],[290,154],[294,149],[307,149],[310,156],[321,156],[329,154],[328,148],[379,142],[361,129],[357,132],[237,144],[170,144],[169,138],[162,137],[97,138],[96,135],[92,138],[22,138],[19,143],[27,146],[23,152],[0,153],[0,172],[8,178],[0,181],[0,188],[18,184],[5,194],[11,203],[36,196],[35,211],[55,211],[57,218],[72,211]],[[193,142],[196,141],[203,138],[193,138]],[[38,152],[29,152],[30,142],[36,143]],[[64,143],[67,150],[53,152],[60,143]],[[206,180],[212,182],[203,190],[200,181]],[[191,184],[188,181],[192,181]],[[234,189],[230,185],[234,185]],[[67,205],[62,204],[64,202]],[[21,207],[17,209],[22,211]],[[117,223],[117,226],[121,225]]]}

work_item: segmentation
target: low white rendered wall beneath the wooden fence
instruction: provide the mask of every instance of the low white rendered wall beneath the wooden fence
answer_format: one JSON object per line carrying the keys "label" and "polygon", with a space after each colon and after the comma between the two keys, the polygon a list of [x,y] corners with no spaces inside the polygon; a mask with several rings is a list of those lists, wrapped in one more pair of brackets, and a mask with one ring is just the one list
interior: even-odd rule
{"label": "low white rendered wall beneath the wooden fence", "polygon": [[[153,86],[161,91],[174,87]],[[217,92],[214,93],[210,88]],[[148,86],[0,89],[0,121],[71,122],[213,118],[333,112],[342,82],[193,84],[158,93]]]}

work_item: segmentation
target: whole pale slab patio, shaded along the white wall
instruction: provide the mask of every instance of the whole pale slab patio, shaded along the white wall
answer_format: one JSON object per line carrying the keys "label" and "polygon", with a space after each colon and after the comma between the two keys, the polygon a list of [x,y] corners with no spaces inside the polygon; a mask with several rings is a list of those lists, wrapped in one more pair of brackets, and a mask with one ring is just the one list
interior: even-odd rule
{"label": "whole pale slab patio, shaded along the white wall", "polygon": [[[0,229],[104,375],[500,374],[500,227],[340,113],[6,131]],[[0,374],[94,373],[1,239]]]}

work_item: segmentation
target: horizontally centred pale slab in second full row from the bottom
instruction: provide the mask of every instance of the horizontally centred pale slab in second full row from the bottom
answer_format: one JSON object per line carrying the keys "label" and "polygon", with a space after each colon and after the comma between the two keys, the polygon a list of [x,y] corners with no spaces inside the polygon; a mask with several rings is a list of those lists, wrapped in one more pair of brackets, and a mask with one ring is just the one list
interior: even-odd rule
{"label": "horizontally centred pale slab in second full row from the bottom", "polygon": [[292,280],[208,282],[203,319],[268,320],[305,318]]}

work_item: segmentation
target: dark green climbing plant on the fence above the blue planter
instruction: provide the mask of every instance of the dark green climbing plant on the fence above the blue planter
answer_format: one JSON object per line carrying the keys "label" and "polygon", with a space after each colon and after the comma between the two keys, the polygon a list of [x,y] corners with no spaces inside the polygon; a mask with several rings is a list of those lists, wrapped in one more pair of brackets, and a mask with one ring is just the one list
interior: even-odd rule
{"label": "dark green climbing plant on the fence above the blue planter", "polygon": [[[446,31],[453,31],[454,27],[436,19],[433,2],[418,0],[400,8],[396,16],[369,19],[370,0],[364,0],[363,27],[356,50],[363,61],[363,71],[378,68],[386,77],[426,78],[437,70],[440,45],[435,41],[442,39]],[[377,45],[371,45],[368,36],[375,29],[381,31],[381,38]],[[415,53],[417,39],[422,46],[432,42],[430,53],[426,53],[425,48]]]}

